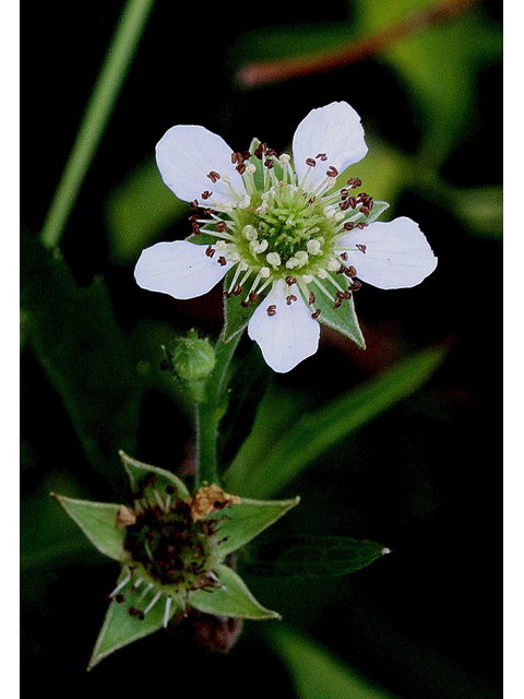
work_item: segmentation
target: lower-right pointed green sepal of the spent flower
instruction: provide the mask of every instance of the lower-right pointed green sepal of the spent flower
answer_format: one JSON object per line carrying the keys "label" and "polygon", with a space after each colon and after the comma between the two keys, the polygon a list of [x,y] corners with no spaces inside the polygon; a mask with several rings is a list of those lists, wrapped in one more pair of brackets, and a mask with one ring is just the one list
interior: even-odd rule
{"label": "lower-right pointed green sepal of the spent flower", "polygon": [[190,592],[189,604],[192,607],[205,614],[241,619],[281,618],[277,612],[266,609],[253,597],[243,580],[231,568],[219,564],[214,571],[223,587],[214,589],[213,592]]}

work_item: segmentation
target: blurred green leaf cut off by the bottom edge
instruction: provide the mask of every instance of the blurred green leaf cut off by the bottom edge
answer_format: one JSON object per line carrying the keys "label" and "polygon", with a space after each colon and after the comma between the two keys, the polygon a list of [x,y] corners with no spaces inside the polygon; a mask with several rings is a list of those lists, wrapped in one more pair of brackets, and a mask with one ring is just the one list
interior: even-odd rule
{"label": "blurred green leaf cut off by the bottom edge", "polygon": [[270,639],[290,672],[298,699],[394,699],[303,636],[278,628]]}

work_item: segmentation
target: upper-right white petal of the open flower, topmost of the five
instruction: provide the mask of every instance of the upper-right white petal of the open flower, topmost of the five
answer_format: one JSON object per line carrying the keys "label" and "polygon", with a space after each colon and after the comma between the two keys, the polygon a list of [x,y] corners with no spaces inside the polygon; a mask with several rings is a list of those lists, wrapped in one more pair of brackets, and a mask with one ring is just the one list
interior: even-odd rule
{"label": "upper-right white petal of the open flower, topmost of the five", "polygon": [[367,152],[360,117],[346,102],[332,102],[310,111],[298,125],[293,139],[298,181],[308,170],[307,158],[315,158],[320,153],[327,156],[325,162],[317,159],[317,166],[307,180],[308,191],[320,185],[330,166],[342,173],[361,161]]}

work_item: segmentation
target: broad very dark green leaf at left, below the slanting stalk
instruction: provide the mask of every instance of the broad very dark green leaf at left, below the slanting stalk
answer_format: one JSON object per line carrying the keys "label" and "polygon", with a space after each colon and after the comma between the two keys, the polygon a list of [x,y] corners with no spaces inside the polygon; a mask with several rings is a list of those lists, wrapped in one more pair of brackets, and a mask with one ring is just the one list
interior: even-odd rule
{"label": "broad very dark green leaf at left, below the slanting stalk", "polygon": [[22,230],[21,306],[31,347],[88,459],[120,488],[117,454],[134,449],[143,383],[105,283],[80,287],[59,251]]}

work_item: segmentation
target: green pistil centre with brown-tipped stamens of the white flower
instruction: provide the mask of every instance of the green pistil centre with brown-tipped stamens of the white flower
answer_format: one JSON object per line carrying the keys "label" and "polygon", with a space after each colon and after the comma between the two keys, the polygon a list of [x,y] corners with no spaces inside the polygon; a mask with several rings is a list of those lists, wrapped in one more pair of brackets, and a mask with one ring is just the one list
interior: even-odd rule
{"label": "green pistil centre with brown-tipped stamens of the white flower", "polygon": [[[296,285],[286,303],[297,300],[298,291],[312,317],[318,318],[315,294],[324,294],[333,308],[340,308],[361,286],[355,279],[355,266],[346,264],[347,245],[341,249],[337,242],[354,228],[367,226],[373,200],[365,192],[354,193],[361,187],[356,177],[336,187],[338,171],[334,166],[312,188],[313,169],[326,159],[325,153],[308,157],[299,181],[288,153],[277,155],[254,140],[250,151],[231,154],[245,192],[231,187],[227,174],[207,174],[211,186],[218,180],[228,186],[230,200],[215,199],[212,188],[203,191],[201,199],[210,206],[199,211],[194,200],[190,221],[194,236],[206,234],[216,239],[207,245],[205,254],[216,256],[222,266],[235,266],[224,291],[226,297],[241,297],[242,306],[257,304],[269,286],[283,280],[288,287]],[[365,246],[355,245],[355,251],[365,253]],[[340,284],[337,274],[349,277],[349,285]],[[266,312],[272,316],[276,309],[270,306]]]}

